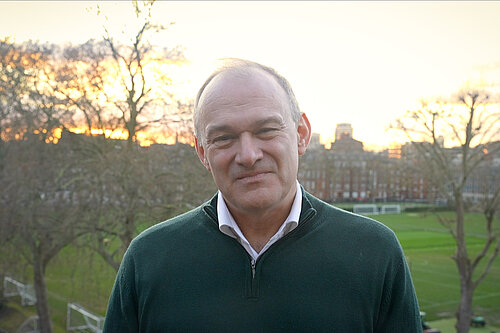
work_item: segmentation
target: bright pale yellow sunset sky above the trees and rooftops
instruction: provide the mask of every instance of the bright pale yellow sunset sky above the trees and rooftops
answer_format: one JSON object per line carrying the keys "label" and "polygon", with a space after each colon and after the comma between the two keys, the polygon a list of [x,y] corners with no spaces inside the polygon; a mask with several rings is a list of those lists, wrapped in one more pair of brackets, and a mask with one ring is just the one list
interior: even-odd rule
{"label": "bright pale yellow sunset sky above the trees and rooftops", "polygon": [[[78,44],[103,24],[133,31],[134,17],[128,1],[1,1],[0,37]],[[500,1],[158,1],[152,13],[175,22],[153,42],[184,47],[173,79],[187,96],[216,59],[257,61],[290,81],[323,142],[347,122],[369,149],[401,141],[387,128],[421,99],[500,87],[499,17]]]}

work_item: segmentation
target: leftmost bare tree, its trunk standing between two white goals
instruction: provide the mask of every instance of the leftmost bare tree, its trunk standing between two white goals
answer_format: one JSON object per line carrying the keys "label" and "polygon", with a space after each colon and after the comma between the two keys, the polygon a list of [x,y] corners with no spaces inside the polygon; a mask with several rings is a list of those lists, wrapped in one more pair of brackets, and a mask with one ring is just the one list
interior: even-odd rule
{"label": "leftmost bare tree, its trunk standing between two white goals", "polygon": [[36,138],[8,145],[8,179],[2,179],[9,198],[4,223],[12,231],[10,243],[33,267],[41,331],[52,332],[45,270],[62,248],[85,232],[81,225],[91,205],[82,193],[76,195],[81,175],[66,147]]}

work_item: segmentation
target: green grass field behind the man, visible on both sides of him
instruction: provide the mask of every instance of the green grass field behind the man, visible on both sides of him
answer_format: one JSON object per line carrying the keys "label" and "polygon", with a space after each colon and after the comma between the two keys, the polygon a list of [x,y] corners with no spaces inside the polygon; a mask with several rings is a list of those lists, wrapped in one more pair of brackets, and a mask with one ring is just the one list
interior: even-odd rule
{"label": "green grass field behind the man, visible on both sides of him", "polygon": [[[454,316],[459,299],[458,273],[451,259],[455,251],[451,235],[434,215],[410,213],[374,217],[396,232],[410,266],[421,310],[427,313],[426,320],[445,322],[453,327],[453,319],[443,321]],[[467,242],[471,253],[481,249],[485,234],[483,229],[479,214],[467,215]],[[31,270],[28,266],[21,266],[17,274],[19,279],[30,281]],[[103,316],[114,277],[115,272],[88,249],[65,248],[47,268],[54,331],[66,331],[68,302],[79,303]],[[18,303],[18,300],[13,299],[12,303]],[[34,307],[14,305],[14,308],[17,321],[8,324],[8,319],[0,317],[0,328],[5,329],[6,325],[16,327],[19,318],[35,313]],[[485,317],[488,324],[500,327],[500,259],[478,287],[473,308],[476,314]],[[453,330],[443,331],[447,332]]]}

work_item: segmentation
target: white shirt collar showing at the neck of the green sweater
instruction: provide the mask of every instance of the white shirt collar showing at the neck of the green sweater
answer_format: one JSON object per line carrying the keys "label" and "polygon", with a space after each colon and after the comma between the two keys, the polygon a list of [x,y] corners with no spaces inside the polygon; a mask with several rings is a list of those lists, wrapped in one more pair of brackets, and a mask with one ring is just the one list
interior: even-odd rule
{"label": "white shirt collar showing at the neck of the green sweater", "polygon": [[295,229],[299,224],[300,211],[302,209],[302,190],[300,189],[299,182],[297,181],[297,192],[295,193],[295,199],[292,203],[292,208],[290,209],[290,214],[285,219],[281,227],[274,234],[271,239],[267,242],[267,244],[262,248],[260,252],[255,251],[255,249],[250,245],[245,235],[241,232],[238,224],[234,220],[233,216],[229,212],[227,208],[226,202],[224,201],[224,197],[222,193],[219,191],[219,195],[217,197],[217,215],[219,219],[219,230],[230,236],[235,238],[241,246],[245,248],[248,254],[252,257],[253,261],[256,261],[260,255],[262,255],[271,245],[276,243],[280,238],[288,234],[290,231]]}

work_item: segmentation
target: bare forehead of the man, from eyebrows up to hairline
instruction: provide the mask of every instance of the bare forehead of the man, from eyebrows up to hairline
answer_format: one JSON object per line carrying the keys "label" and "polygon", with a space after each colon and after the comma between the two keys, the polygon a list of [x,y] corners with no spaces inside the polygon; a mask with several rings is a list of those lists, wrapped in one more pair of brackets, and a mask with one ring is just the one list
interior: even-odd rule
{"label": "bare forehead of the man, from eyebrows up to hairline", "polygon": [[[289,112],[288,98],[275,78],[262,70],[223,72],[217,75],[200,96],[200,127],[226,117],[251,117]],[[291,116],[290,116],[291,117]]]}

